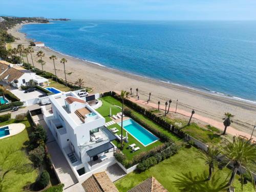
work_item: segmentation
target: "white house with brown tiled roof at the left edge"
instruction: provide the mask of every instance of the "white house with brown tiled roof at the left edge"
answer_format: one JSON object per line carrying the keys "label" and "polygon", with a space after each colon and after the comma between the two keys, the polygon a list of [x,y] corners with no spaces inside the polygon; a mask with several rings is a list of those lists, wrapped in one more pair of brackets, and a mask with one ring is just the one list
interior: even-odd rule
{"label": "white house with brown tiled roof at the left edge", "polygon": [[29,86],[30,80],[39,86],[49,86],[48,79],[4,60],[0,60],[0,79],[16,88]]}

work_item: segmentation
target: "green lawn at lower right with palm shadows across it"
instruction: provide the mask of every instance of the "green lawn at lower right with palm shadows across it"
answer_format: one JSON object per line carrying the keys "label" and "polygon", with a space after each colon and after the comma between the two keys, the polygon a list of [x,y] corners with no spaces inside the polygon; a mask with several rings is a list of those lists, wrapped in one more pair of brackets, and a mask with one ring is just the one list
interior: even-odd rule
{"label": "green lawn at lower right with palm shadows across it", "polygon": [[[231,174],[231,170],[215,168],[211,181],[205,181],[208,176],[208,167],[202,160],[195,159],[198,149],[195,147],[181,148],[178,154],[166,159],[151,167],[143,173],[132,172],[115,182],[120,192],[127,191],[144,181],[148,177],[154,176],[168,191],[226,191],[226,183]],[[238,176],[233,185],[236,191],[241,190]],[[251,183],[244,185],[243,191],[254,191]]]}

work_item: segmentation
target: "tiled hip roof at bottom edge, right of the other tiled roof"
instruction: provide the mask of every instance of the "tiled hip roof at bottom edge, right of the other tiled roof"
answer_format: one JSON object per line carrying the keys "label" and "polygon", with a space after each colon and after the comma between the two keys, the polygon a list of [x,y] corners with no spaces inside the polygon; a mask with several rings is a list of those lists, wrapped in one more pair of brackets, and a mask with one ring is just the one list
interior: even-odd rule
{"label": "tiled hip roof at bottom edge, right of the other tiled roof", "polygon": [[168,192],[168,190],[166,190],[154,177],[150,177],[127,192]]}

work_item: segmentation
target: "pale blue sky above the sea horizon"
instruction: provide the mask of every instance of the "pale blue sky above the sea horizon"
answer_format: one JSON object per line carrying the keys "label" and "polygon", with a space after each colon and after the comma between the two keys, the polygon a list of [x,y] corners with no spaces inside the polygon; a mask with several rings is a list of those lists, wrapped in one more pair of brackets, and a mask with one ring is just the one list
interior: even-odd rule
{"label": "pale blue sky above the sea horizon", "polygon": [[256,0],[1,0],[1,7],[0,15],[48,18],[256,20]]}

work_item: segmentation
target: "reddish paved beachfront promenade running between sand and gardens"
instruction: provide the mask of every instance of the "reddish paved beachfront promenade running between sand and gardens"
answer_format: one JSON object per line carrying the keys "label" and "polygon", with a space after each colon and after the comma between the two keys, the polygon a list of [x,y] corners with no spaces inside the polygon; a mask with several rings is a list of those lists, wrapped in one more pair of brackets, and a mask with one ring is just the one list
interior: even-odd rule
{"label": "reddish paved beachfront promenade running between sand and gardens", "polygon": [[[120,94],[121,92],[120,91],[115,91],[116,93]],[[136,98],[133,98],[133,97],[129,97],[128,98],[129,100],[135,102],[135,103],[139,103],[139,104],[142,104],[142,105],[145,105],[145,106],[151,106],[152,108],[155,108],[155,109],[158,109],[158,104],[157,103],[152,103],[152,102],[148,102],[145,101],[145,100],[141,100],[141,99],[136,99]],[[165,110],[165,105],[160,105],[159,106],[159,109],[160,110]],[[170,112],[175,112],[175,108],[172,108],[170,107]],[[187,117],[190,117],[191,116],[191,112],[187,112],[187,111],[184,111],[184,110],[180,110],[177,108],[177,113],[178,114],[181,114],[181,115],[184,115],[184,116],[187,116]],[[224,131],[224,125],[223,125],[223,122],[219,122],[219,121],[216,121],[214,119],[210,119],[210,118],[207,118],[207,117],[203,117],[201,115],[198,115],[197,113],[195,113],[193,115],[193,118],[194,119],[198,119],[200,121],[203,121],[207,124],[210,124],[211,126],[215,126],[217,127],[219,130],[221,131]],[[250,138],[251,135],[250,134],[247,134],[247,133],[244,133],[244,132],[241,132],[241,131],[238,131],[236,129],[234,129],[232,126],[228,126],[227,127],[227,130],[226,130],[226,133],[230,134],[230,135],[234,135],[234,136],[245,136],[247,138]],[[256,137],[252,136],[252,139],[254,141],[256,141]]]}

